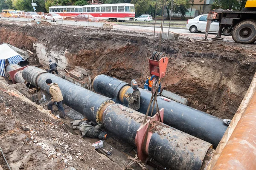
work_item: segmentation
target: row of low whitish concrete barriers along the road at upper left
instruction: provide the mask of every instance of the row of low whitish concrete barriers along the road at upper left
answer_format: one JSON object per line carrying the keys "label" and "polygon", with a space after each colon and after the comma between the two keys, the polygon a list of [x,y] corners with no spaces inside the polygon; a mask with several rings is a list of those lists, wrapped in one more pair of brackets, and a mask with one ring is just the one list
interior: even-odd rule
{"label": "row of low whitish concrete barriers along the road at upper left", "polygon": [[[47,21],[49,23],[52,23],[51,20],[45,20],[45,19],[32,19],[32,18],[7,18],[7,17],[1,17],[1,20],[9,20],[9,21],[17,21],[17,22],[31,22],[31,21]],[[68,25],[68,26],[84,26],[84,27],[97,27],[97,28],[109,28],[113,29],[113,24],[111,23],[94,23],[94,22],[87,22],[87,21],[74,21],[74,20],[56,20],[56,24],[59,25]]]}

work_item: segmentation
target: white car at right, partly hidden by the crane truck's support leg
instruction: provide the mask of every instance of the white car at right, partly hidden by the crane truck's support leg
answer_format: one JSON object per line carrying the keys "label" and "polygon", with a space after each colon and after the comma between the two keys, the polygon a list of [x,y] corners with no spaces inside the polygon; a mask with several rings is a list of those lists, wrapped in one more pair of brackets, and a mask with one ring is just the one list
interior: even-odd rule
{"label": "white car at right, partly hidden by the crane truck's support leg", "polygon": [[[187,21],[186,28],[189,29],[190,32],[196,33],[205,31],[207,23],[207,14],[199,15],[193,19]],[[212,21],[209,32],[218,32],[219,22]],[[222,33],[224,35],[229,36],[231,33],[227,33],[227,29],[223,29]]]}

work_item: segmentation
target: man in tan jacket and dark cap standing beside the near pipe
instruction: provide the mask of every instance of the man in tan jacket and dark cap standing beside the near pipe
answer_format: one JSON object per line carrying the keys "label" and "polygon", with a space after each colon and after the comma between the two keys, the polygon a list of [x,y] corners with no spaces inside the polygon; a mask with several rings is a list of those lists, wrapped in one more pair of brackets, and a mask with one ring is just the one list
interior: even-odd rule
{"label": "man in tan jacket and dark cap standing beside the near pipe", "polygon": [[60,117],[62,119],[65,119],[65,112],[62,104],[63,96],[61,93],[61,89],[58,87],[57,83],[52,83],[51,79],[47,79],[45,82],[47,83],[47,85],[50,86],[49,92],[50,92],[50,95],[52,96],[51,100],[47,104],[47,109],[52,111],[52,106],[57,105],[58,110],[60,112]]}

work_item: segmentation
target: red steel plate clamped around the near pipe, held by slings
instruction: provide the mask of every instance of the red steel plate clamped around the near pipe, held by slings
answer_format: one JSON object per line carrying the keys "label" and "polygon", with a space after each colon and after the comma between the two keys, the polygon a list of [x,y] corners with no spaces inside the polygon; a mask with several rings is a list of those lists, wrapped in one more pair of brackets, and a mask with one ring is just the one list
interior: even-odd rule
{"label": "red steel plate clamped around the near pipe, held by slings", "polygon": [[[137,153],[138,153],[138,158],[141,160],[141,161],[145,161],[147,159],[147,154],[145,154],[143,152],[143,142],[144,140],[146,140],[146,150],[148,148],[148,142],[149,140],[147,139],[150,139],[151,136],[152,136],[152,133],[148,133],[148,136],[147,136],[147,139],[145,139],[145,134],[147,132],[147,129],[148,129],[148,126],[149,126],[149,123],[152,123],[153,121],[160,121],[159,120],[159,116],[158,114],[160,114],[160,117],[161,117],[161,122],[163,122],[163,108],[160,109],[159,112],[157,112],[151,119],[148,119],[147,122],[145,122],[145,124],[141,125],[140,128],[137,130],[137,134],[136,134],[136,137],[135,137],[135,144],[137,146]],[[146,152],[145,150],[145,152]]]}

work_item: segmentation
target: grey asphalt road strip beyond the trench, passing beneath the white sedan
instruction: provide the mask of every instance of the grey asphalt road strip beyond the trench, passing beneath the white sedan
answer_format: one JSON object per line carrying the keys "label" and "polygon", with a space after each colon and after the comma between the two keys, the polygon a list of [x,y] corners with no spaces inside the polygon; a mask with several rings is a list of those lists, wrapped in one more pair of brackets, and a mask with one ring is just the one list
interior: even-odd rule
{"label": "grey asphalt road strip beyond the trench, passing beneath the white sedan", "polygon": [[[137,31],[137,32],[148,32],[153,33],[154,27],[143,27],[143,26],[120,26],[114,25],[114,29],[122,30],[122,31]],[[155,28],[156,33],[160,33],[161,28]],[[195,38],[195,39],[202,39],[205,36],[205,32],[198,32],[198,33],[191,33],[188,29],[177,29],[177,28],[170,28],[170,31],[175,32],[177,34],[185,35],[187,37]],[[163,32],[168,33],[168,28],[163,28]],[[210,32],[208,34],[208,38],[216,37],[217,32]],[[224,40],[233,41],[231,36],[224,36]]]}

